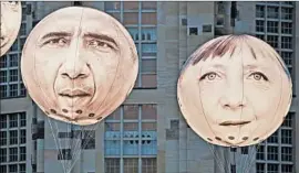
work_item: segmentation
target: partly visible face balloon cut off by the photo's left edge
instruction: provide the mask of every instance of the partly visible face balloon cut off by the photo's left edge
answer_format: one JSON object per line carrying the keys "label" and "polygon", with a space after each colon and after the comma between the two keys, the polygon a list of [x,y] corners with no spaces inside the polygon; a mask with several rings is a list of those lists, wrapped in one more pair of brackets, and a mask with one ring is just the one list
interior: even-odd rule
{"label": "partly visible face balloon cut off by the photo's left edge", "polygon": [[22,18],[21,2],[1,1],[0,56],[4,55],[16,41]]}

